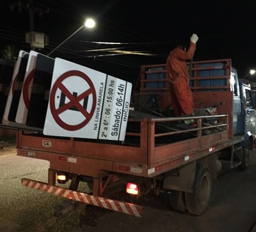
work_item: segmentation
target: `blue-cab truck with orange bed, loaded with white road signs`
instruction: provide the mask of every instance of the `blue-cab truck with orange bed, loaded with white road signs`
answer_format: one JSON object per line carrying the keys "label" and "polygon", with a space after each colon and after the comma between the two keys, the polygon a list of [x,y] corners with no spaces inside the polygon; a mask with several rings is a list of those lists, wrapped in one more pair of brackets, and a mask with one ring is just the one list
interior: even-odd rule
{"label": "blue-cab truck with orange bed, loaded with white road signs", "polygon": [[[48,62],[50,87],[39,84],[44,75],[35,70],[27,104],[29,115],[32,94],[40,95],[45,117],[30,125],[2,120],[18,130],[18,156],[50,162],[48,183],[22,179],[24,186],[138,217],[142,206],[134,198],[168,194],[174,209],[201,215],[222,162],[246,169],[255,110],[250,87],[239,81],[230,59],[193,62],[191,117],[172,116],[165,64],[141,67],[140,91],[130,102],[130,83],[59,58]],[[17,85],[21,92],[25,83]],[[79,182],[90,191],[79,192]]]}

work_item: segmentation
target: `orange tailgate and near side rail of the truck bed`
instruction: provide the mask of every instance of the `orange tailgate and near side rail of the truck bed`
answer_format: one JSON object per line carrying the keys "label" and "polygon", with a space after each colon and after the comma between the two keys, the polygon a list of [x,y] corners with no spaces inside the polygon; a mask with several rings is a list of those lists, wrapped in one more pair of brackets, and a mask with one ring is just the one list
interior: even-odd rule
{"label": "orange tailgate and near side rail of the truck bed", "polygon": [[[222,118],[223,130],[203,135],[207,126],[202,126],[202,119]],[[223,120],[223,118],[225,120]],[[155,176],[171,170],[185,163],[207,156],[208,154],[225,147],[228,139],[228,116],[194,117],[198,126],[190,130],[180,130],[175,133],[155,133],[155,126],[159,122],[185,120],[184,118],[144,118],[140,121],[140,145],[122,145],[76,141],[74,138],[54,138],[37,134],[26,135],[18,132],[18,156],[48,160],[54,170],[62,170],[89,176],[102,176],[107,172],[120,172],[138,176]],[[191,117],[189,117],[191,119]],[[131,122],[138,120],[131,120]],[[210,126],[212,127],[212,126]],[[213,126],[214,127],[214,126]],[[196,137],[169,144],[156,144],[158,137],[172,137],[196,131]],[[195,133],[194,133],[195,134]]]}

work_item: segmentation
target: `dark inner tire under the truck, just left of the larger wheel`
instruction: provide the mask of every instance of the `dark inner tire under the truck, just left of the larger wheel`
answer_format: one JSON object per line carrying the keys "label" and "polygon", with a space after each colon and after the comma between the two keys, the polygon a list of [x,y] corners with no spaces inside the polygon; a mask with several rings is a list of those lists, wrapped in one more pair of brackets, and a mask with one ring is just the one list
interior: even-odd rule
{"label": "dark inner tire under the truck, just left of the larger wheel", "polygon": [[172,193],[169,193],[168,195],[170,205],[172,205],[173,209],[180,212],[184,212],[187,210],[184,192],[172,190]]}

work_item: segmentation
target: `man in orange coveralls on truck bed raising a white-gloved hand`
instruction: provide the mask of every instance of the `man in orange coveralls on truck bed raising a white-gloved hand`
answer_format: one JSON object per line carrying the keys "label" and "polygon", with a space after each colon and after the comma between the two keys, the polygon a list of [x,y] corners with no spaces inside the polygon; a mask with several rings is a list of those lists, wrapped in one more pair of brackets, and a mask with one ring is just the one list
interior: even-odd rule
{"label": "man in orange coveralls on truck bed raising a white-gloved hand", "polygon": [[170,54],[166,61],[166,69],[170,82],[170,96],[175,116],[192,116],[194,112],[193,96],[189,88],[189,73],[186,60],[191,60],[196,51],[197,34],[190,37],[189,48],[179,45]]}

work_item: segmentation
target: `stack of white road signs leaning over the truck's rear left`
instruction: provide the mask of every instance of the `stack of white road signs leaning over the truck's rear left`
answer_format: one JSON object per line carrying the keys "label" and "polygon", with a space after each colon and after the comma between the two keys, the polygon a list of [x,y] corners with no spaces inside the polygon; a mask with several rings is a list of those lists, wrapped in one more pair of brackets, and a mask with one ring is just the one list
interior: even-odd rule
{"label": "stack of white road signs leaning over the truck's rear left", "polygon": [[1,76],[11,80],[0,102],[3,125],[50,136],[124,140],[131,83],[32,50],[20,50],[13,66]]}

